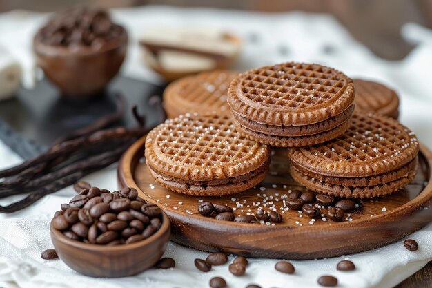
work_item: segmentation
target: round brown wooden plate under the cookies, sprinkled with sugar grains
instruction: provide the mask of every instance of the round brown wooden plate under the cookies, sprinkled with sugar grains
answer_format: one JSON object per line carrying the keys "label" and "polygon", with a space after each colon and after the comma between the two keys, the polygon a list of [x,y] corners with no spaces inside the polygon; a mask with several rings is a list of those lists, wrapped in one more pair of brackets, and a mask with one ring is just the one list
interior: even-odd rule
{"label": "round brown wooden plate under the cookies, sprinkled with sugar grains", "polygon": [[[191,197],[157,184],[144,159],[145,137],[133,144],[119,163],[119,186],[135,187],[142,198],[158,204],[171,220],[171,240],[202,251],[224,251],[249,257],[314,259],[357,253],[400,240],[432,220],[432,153],[420,148],[420,169],[406,189],[392,195],[361,200],[345,213],[342,222],[311,220],[298,211],[285,210],[289,190],[300,186],[288,173],[283,149],[275,150],[270,173],[255,189],[225,197]],[[254,213],[257,207],[275,207],[283,217],[279,224],[248,224],[215,220],[200,215],[199,202],[227,204],[235,215]],[[282,207],[282,209],[281,209]]]}

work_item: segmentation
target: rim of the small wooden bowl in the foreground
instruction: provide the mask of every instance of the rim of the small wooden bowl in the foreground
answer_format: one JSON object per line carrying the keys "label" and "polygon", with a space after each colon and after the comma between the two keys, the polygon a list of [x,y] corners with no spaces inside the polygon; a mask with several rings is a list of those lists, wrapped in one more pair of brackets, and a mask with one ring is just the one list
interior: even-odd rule
{"label": "rim of the small wooden bowl in the foreground", "polygon": [[[114,246],[107,246],[104,244],[90,244],[90,243],[84,243],[77,240],[72,240],[64,236],[61,231],[55,229],[52,227],[52,221],[50,223],[50,231],[51,231],[51,237],[56,238],[63,244],[82,249],[82,250],[92,250],[97,252],[119,252],[119,251],[125,251],[130,249],[136,249],[138,247],[143,247],[151,242],[155,241],[162,241],[164,234],[168,231],[170,234],[170,218],[168,218],[168,215],[162,210],[162,225],[159,228],[159,230],[156,231],[155,234],[150,236],[147,239],[132,243],[132,244],[121,244],[121,245],[114,245]],[[169,237],[168,237],[169,238]],[[166,241],[168,242],[168,240]]]}

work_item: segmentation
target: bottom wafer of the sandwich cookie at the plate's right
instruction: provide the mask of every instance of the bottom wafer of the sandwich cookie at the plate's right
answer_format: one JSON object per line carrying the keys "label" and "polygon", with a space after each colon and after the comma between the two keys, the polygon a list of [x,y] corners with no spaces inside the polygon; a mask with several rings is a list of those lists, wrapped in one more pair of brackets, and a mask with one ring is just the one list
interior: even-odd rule
{"label": "bottom wafer of the sandwich cookie at the plate's right", "polygon": [[291,176],[296,182],[315,192],[343,198],[373,198],[377,196],[388,195],[403,189],[406,185],[411,183],[415,178],[416,171],[416,169],[409,171],[409,173],[407,173],[404,177],[400,177],[395,181],[385,184],[364,187],[348,187],[333,185],[322,180],[308,177],[307,175],[304,175],[298,171],[294,166],[290,166]]}

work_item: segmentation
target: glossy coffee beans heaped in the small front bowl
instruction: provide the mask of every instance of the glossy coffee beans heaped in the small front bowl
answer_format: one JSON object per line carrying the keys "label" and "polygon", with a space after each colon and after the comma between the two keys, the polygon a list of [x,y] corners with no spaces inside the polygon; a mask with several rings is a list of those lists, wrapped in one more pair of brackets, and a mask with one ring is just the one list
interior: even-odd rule
{"label": "glossy coffee beans heaped in the small front bowl", "polygon": [[161,227],[161,209],[138,197],[136,189],[110,193],[83,189],[68,204],[61,204],[52,226],[64,236],[90,244],[130,244],[149,238]]}

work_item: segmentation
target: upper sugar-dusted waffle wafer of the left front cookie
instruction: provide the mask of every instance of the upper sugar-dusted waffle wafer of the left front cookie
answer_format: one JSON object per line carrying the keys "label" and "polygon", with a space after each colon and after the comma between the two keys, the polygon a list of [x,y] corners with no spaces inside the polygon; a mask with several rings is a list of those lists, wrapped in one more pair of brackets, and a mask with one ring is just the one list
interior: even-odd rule
{"label": "upper sugar-dusted waffle wafer of the left front cookie", "polygon": [[250,173],[268,160],[270,151],[237,132],[227,115],[181,115],[148,133],[145,155],[154,171],[210,181]]}

